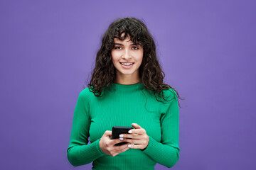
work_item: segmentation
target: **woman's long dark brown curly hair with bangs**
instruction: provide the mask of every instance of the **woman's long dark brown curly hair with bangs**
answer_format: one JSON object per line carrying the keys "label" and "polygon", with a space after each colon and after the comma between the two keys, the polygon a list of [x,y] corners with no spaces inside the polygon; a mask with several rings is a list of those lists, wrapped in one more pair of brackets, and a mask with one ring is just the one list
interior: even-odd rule
{"label": "woman's long dark brown curly hair with bangs", "polygon": [[[124,36],[121,37],[121,35]],[[97,52],[95,68],[92,71],[90,83],[87,87],[95,96],[102,96],[106,89],[110,89],[110,85],[116,79],[116,68],[112,62],[111,52],[114,48],[114,38],[124,40],[127,35],[134,44],[143,47],[142,64],[139,67],[139,77],[142,78],[143,88],[147,91],[153,91],[156,101],[160,96],[165,101],[165,89],[173,89],[176,96],[183,100],[178,92],[168,84],[164,84],[164,72],[156,57],[156,45],[149,30],[145,24],[137,18],[118,18],[113,21],[102,37],[102,45]],[[83,86],[85,88],[85,86]],[[143,92],[143,91],[142,91]],[[171,91],[174,93],[173,91]],[[172,99],[172,98],[171,98]],[[162,101],[160,101],[162,102]],[[178,102],[178,106],[180,103]]]}

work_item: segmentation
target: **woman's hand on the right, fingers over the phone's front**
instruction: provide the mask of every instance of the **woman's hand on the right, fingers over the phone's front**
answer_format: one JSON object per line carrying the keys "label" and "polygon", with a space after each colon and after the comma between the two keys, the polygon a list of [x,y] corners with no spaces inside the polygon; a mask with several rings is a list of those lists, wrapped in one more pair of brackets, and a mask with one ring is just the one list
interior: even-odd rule
{"label": "woman's hand on the right, fingers over the phone's front", "polygon": [[132,149],[145,149],[147,145],[149,145],[149,136],[146,135],[146,130],[140,127],[137,123],[132,123],[132,127],[134,127],[134,129],[129,130],[131,133],[123,133],[119,135],[119,139],[124,142],[132,143],[133,145],[128,146]]}

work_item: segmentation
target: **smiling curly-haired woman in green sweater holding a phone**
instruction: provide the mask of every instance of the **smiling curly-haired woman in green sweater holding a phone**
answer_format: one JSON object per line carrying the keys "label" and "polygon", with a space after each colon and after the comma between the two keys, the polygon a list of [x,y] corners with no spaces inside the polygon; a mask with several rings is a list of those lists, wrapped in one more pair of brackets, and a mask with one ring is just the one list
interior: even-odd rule
{"label": "smiling curly-haired woman in green sweater holding a phone", "polygon": [[[110,24],[75,106],[68,161],[92,169],[172,167],[179,158],[178,92],[163,83],[151,34],[137,18]],[[183,99],[183,98],[180,98]],[[113,126],[132,126],[111,139]],[[90,137],[90,144],[88,143]],[[127,142],[125,145],[115,144]]]}

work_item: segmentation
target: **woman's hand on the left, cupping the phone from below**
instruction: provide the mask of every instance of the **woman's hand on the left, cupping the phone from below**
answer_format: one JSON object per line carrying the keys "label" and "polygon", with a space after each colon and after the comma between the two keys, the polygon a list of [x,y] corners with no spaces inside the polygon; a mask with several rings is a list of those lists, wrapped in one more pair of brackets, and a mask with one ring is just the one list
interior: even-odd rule
{"label": "woman's hand on the left, cupping the phone from below", "polygon": [[115,144],[123,141],[119,139],[111,140],[111,135],[112,135],[112,131],[110,130],[106,130],[105,133],[102,135],[100,139],[100,149],[102,149],[102,152],[114,157],[117,154],[129,149],[128,145],[131,145],[130,143],[120,145],[120,146],[114,146]]}

